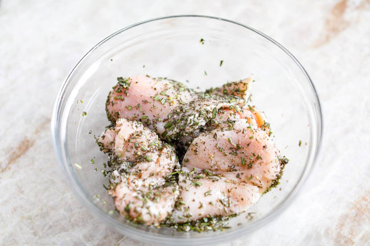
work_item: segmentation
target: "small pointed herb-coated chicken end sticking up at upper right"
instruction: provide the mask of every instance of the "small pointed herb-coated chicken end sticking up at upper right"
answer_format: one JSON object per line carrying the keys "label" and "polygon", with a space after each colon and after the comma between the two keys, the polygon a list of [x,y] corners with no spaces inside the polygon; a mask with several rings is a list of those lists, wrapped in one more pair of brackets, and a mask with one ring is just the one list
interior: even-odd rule
{"label": "small pointed herb-coated chicken end sticking up at upper right", "polygon": [[249,77],[247,79],[226,83],[221,87],[208,89],[205,93],[219,96],[233,95],[248,101],[252,82],[253,78]]}

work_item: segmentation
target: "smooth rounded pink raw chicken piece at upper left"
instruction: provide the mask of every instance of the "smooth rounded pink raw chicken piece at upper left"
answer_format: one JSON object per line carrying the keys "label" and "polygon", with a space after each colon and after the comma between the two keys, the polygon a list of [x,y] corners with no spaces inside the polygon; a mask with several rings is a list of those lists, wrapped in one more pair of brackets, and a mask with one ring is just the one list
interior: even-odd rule
{"label": "smooth rounded pink raw chicken piece at upper left", "polygon": [[174,80],[142,75],[119,77],[108,95],[106,111],[111,122],[118,118],[141,121],[162,134],[168,114],[196,97],[194,91]]}

